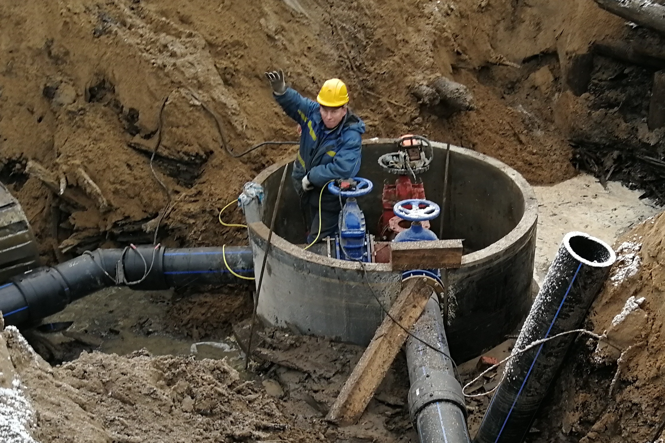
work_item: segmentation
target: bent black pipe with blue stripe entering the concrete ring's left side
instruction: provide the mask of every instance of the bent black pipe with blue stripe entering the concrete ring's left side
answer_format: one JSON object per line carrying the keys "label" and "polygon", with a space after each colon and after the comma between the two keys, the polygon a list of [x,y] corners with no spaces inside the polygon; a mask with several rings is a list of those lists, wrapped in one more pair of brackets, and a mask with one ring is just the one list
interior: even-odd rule
{"label": "bent black pipe with blue stripe entering the concrete ring's left side", "polygon": [[[233,272],[253,276],[251,247],[229,246],[225,256]],[[164,290],[243,281],[247,280],[233,276],[224,264],[222,248],[149,245],[137,246],[136,250],[98,249],[53,268],[38,268],[15,276],[0,286],[0,311],[7,325],[33,325],[62,311],[74,300],[108,286],[126,284],[138,290]]]}

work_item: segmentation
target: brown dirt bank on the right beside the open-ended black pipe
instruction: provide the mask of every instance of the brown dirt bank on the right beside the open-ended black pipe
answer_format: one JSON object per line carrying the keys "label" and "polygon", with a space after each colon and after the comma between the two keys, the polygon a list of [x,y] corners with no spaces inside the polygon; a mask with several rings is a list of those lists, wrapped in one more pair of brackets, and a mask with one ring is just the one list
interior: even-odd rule
{"label": "brown dirt bank on the right beside the open-ended black pipe", "polygon": [[[535,441],[644,443],[662,438],[654,435],[665,420],[664,238],[665,215],[661,214],[618,240],[617,244],[641,244],[636,253],[641,260],[639,270],[632,276],[626,274],[622,281],[612,280],[632,262],[618,260],[588,319],[595,332],[607,331],[608,341],[623,353],[607,345],[597,348],[586,340],[578,343],[542,414],[542,426],[536,425],[550,428],[549,432]],[[623,321],[612,324],[631,296],[645,300]]]}

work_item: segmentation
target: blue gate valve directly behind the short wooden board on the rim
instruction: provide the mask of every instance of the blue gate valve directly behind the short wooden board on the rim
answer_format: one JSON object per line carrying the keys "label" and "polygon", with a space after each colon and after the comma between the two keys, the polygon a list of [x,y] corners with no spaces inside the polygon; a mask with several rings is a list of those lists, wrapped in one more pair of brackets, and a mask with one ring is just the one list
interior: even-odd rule
{"label": "blue gate valve directly behind the short wooden board on the rim", "polygon": [[[393,207],[396,216],[411,222],[411,227],[395,236],[394,242],[421,242],[438,240],[439,238],[429,230],[422,227],[421,222],[436,219],[441,213],[439,205],[429,200],[410,199],[398,201]],[[438,269],[414,269],[402,272],[402,279],[412,276],[428,276],[434,278],[442,287],[441,271]]]}

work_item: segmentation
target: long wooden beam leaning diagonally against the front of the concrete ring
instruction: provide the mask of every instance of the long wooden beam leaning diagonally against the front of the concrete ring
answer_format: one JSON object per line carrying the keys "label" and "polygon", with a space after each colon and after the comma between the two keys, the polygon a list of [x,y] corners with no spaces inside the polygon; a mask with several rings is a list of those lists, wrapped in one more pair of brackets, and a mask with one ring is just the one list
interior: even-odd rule
{"label": "long wooden beam leaning diagonally against the front of the concrete ring", "polygon": [[[432,288],[424,280],[408,280],[390,308],[390,315],[400,325],[411,329],[425,309],[430,296]],[[339,424],[354,424],[360,419],[407,337],[404,329],[390,317],[384,319],[342,387],[327,420]]]}

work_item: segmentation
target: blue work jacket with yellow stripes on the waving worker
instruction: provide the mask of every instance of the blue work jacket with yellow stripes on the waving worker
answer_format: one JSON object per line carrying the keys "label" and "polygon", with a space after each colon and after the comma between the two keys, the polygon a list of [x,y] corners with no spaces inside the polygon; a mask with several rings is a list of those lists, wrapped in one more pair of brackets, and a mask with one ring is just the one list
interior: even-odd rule
{"label": "blue work jacket with yellow stripes on the waving worker", "polygon": [[[303,194],[301,181],[309,174],[309,181],[321,189],[328,181],[355,177],[360,169],[360,135],[365,124],[350,110],[340,124],[329,130],[323,124],[319,104],[301,96],[292,88],[275,100],[287,116],[301,126],[300,150],[293,163],[293,185]],[[318,197],[318,190],[317,190]]]}

